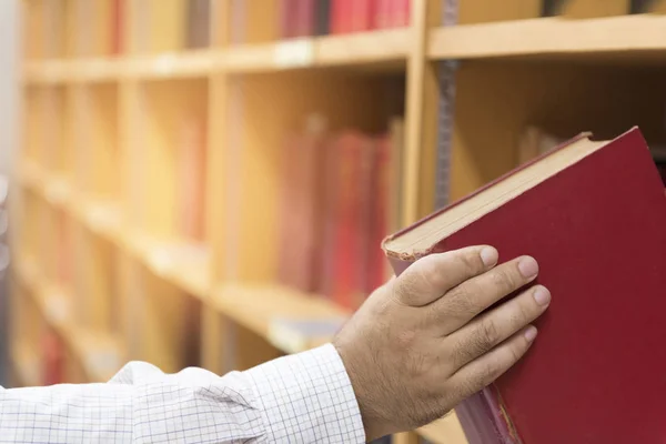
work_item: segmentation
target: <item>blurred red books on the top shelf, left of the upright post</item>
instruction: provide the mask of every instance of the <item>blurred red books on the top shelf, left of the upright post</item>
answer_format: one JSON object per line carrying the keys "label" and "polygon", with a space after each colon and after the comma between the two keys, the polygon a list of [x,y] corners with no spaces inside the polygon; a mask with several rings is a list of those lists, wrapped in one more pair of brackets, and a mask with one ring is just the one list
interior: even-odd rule
{"label": "blurred red books on the top shelf, left of the upright post", "polygon": [[344,34],[410,23],[410,0],[282,0],[280,37]]}

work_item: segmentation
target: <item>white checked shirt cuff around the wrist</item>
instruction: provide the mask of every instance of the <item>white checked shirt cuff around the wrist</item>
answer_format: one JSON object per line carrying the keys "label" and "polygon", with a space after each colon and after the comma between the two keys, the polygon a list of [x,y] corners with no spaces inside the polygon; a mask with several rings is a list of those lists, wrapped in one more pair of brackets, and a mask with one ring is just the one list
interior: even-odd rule
{"label": "white checked shirt cuff around the wrist", "polygon": [[365,443],[352,383],[332,344],[245,374],[261,406],[268,442]]}

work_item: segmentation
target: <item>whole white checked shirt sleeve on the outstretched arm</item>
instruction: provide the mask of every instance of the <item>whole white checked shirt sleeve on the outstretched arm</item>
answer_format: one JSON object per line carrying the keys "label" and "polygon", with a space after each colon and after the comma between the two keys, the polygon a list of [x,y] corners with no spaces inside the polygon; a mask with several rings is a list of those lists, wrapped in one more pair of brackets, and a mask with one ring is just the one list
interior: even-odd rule
{"label": "whole white checked shirt sleeve on the outstretched arm", "polygon": [[335,347],[218,376],[143,362],[110,382],[0,387],[1,443],[364,443]]}

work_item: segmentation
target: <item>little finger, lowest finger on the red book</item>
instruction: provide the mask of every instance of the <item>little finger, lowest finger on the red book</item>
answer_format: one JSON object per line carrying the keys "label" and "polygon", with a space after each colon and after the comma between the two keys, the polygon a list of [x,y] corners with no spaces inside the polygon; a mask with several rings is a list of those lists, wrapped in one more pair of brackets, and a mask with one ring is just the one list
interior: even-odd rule
{"label": "little finger, lowest finger on the red book", "polygon": [[536,333],[529,325],[454,373],[450,382],[457,389],[457,397],[464,400],[504,374],[529,350]]}

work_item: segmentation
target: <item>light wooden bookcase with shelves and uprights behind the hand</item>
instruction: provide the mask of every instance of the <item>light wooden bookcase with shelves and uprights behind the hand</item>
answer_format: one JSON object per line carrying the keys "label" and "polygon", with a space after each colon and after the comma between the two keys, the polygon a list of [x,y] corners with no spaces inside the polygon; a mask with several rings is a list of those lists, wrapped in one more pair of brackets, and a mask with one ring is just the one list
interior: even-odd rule
{"label": "light wooden bookcase with shelves and uprights behind the hand", "polygon": [[[199,49],[183,43],[186,1],[124,0],[120,20],[112,0],[21,1],[17,385],[42,381],[43,332],[63,344],[68,382],[108,380],[128,360],[224,373],[321,343],[271,330],[280,316],[346,314],[275,283],[276,141],[313,108],[336,125],[381,128],[386,79],[404,79],[398,225],[434,209],[443,155],[456,200],[517,165],[527,125],[565,138],[638,124],[666,142],[666,17],[629,14],[628,1],[571,0],[538,17],[537,0],[465,0],[457,11],[413,0],[405,28],[274,40],[252,0],[238,44],[231,0],[211,0],[210,46]],[[443,61],[457,67],[446,119]],[[179,150],[192,134],[180,125],[192,118],[204,123],[204,223],[185,233]],[[466,442],[454,413],[395,442],[418,435]]]}

